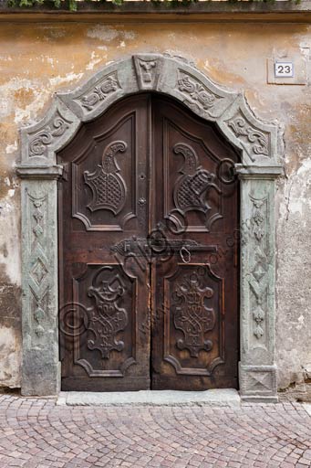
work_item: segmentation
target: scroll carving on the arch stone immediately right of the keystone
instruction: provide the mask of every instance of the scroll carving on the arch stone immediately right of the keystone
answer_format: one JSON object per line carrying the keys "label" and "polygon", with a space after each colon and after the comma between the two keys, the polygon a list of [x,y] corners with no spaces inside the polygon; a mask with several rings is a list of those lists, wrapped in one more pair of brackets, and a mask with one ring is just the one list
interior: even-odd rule
{"label": "scroll carving on the arch stone immediately right of the keystone", "polygon": [[216,96],[211,90],[194,77],[182,72],[177,81],[177,90],[181,91],[186,98],[185,103],[194,111],[209,111],[217,101],[223,99]]}

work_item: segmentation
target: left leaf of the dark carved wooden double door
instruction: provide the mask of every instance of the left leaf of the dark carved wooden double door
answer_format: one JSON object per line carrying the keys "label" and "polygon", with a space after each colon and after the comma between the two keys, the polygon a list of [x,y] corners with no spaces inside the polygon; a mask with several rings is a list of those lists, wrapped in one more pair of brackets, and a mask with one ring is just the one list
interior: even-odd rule
{"label": "left leaf of the dark carved wooden double door", "polygon": [[148,102],[120,101],[59,154],[64,390],[150,388],[150,271],[127,271],[112,249],[148,234]]}

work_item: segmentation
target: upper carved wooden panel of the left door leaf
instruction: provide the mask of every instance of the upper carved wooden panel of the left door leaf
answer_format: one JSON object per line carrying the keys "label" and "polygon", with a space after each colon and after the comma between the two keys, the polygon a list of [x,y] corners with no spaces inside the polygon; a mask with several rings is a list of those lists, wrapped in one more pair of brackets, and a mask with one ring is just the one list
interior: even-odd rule
{"label": "upper carved wooden panel of the left door leaf", "polygon": [[123,230],[137,218],[136,118],[128,112],[89,138],[72,162],[72,215],[87,230]]}

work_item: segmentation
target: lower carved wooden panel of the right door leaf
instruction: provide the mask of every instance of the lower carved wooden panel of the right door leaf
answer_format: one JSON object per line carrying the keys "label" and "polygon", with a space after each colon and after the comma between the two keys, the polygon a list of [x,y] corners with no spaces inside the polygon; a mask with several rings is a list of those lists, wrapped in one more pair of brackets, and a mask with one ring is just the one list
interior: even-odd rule
{"label": "lower carved wooden panel of the right door leaf", "polygon": [[164,360],[177,374],[211,375],[223,362],[222,279],[207,266],[178,264],[164,293]]}

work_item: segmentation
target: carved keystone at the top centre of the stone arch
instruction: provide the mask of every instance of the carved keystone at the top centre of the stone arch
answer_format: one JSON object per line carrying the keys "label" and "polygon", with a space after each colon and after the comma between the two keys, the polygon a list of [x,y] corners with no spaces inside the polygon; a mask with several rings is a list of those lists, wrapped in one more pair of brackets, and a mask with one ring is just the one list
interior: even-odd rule
{"label": "carved keystone at the top centre of the stone arch", "polygon": [[140,90],[157,88],[161,75],[161,58],[153,55],[133,56]]}

